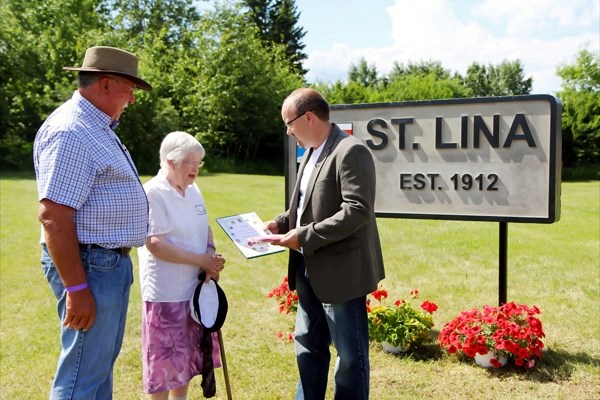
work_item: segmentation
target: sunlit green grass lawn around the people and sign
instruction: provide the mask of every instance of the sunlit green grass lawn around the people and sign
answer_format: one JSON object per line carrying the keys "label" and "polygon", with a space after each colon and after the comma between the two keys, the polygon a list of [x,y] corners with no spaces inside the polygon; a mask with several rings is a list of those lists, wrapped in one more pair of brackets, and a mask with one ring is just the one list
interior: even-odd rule
{"label": "sunlit green grass lawn around the people and sign", "polygon": [[[148,179],[148,177],[145,177]],[[229,301],[222,329],[235,399],[291,399],[297,381],[294,349],[277,340],[292,316],[277,313],[266,294],[286,271],[287,255],[247,260],[216,217],[256,211],[263,220],[284,207],[284,179],[204,174]],[[544,359],[529,371],[486,370],[442,354],[437,343],[403,355],[371,347],[373,399],[600,398],[600,183],[562,185],[557,223],[508,224],[508,300],[537,305],[544,324]],[[0,177],[0,398],[46,399],[57,355],[55,300],[40,268],[37,194],[31,175]],[[391,298],[419,289],[438,304],[435,328],[461,310],[498,302],[498,223],[379,219]],[[134,264],[137,257],[134,252]],[[137,268],[137,267],[136,267]],[[136,270],[137,274],[137,270]],[[127,333],[115,366],[115,399],[141,392],[140,287],[132,287]],[[331,376],[330,376],[331,381]],[[190,399],[202,398],[200,379]],[[332,398],[331,392],[328,398]],[[216,399],[225,399],[217,371]]]}

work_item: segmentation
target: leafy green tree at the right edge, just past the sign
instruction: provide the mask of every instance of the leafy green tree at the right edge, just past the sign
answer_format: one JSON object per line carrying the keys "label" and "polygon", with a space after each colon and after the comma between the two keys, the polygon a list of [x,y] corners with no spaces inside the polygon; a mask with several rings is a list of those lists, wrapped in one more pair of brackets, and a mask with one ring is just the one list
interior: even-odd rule
{"label": "leafy green tree at the right edge, just past the sign", "polygon": [[600,54],[587,49],[575,60],[558,66],[563,80],[557,96],[563,103],[563,161],[565,165],[600,162]]}

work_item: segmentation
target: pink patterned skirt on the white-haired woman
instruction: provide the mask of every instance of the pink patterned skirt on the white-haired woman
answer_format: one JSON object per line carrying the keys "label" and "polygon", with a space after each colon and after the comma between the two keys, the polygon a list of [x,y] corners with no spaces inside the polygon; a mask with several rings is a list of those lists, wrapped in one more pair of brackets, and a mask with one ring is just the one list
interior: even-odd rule
{"label": "pink patterned skirt on the white-haired woman", "polygon": [[[202,374],[202,327],[190,316],[188,301],[142,304],[144,393],[176,389]],[[213,339],[214,367],[221,366],[219,340]]]}

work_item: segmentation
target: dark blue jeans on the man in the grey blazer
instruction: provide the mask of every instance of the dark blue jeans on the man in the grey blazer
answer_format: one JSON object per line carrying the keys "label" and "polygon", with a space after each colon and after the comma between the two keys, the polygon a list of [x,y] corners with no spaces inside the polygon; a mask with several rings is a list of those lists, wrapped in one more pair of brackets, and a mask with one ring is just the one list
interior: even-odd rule
{"label": "dark blue jeans on the man in the grey blazer", "polygon": [[325,398],[332,341],[337,351],[334,398],[368,399],[370,366],[366,297],[323,304],[310,286],[304,266],[297,269],[296,291],[298,311],[294,341],[300,373],[296,400]]}

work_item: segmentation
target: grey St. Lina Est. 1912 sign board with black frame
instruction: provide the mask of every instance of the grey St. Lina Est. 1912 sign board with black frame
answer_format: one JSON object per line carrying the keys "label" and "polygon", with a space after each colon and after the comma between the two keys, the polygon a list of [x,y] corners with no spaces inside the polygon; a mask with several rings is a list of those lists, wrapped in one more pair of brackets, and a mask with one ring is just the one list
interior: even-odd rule
{"label": "grey St. Lina Est. 1912 sign board with black frame", "polygon": [[379,217],[560,218],[561,109],[553,96],[333,105],[330,120],[371,150]]}

